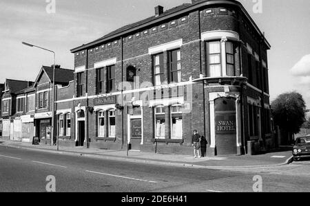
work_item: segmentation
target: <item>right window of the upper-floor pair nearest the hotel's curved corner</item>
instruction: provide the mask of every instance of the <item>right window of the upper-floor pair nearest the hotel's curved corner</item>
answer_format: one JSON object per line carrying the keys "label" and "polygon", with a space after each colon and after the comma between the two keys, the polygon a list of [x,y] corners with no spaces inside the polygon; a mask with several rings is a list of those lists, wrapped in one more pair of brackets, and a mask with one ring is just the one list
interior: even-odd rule
{"label": "right window of the upper-floor pair nearest the hotel's curved corner", "polygon": [[170,69],[170,82],[181,81],[180,49],[168,52],[168,63]]}

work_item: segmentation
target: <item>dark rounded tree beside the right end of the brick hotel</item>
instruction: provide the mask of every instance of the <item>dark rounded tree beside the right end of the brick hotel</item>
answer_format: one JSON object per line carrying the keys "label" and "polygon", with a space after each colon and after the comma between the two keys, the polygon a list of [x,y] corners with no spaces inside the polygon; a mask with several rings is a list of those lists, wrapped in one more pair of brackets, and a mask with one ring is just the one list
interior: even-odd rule
{"label": "dark rounded tree beside the right end of the brick hotel", "polygon": [[306,121],[306,104],[297,92],[283,93],[271,103],[273,119],[276,125],[290,133],[300,132]]}

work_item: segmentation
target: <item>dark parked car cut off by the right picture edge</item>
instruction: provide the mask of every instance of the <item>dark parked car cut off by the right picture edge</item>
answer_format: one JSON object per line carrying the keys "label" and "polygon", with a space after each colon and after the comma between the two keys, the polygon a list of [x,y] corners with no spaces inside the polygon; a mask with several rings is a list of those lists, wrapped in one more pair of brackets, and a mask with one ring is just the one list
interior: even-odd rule
{"label": "dark parked car cut off by the right picture edge", "polygon": [[293,146],[293,158],[294,161],[303,158],[310,157],[310,137],[298,137]]}

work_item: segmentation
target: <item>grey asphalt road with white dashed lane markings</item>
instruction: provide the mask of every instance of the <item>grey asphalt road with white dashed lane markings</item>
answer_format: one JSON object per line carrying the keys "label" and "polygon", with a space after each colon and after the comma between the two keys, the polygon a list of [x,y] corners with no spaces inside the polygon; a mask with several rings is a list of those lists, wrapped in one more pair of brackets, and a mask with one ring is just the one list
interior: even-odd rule
{"label": "grey asphalt road with white dashed lane markings", "polygon": [[[309,162],[291,167],[292,173],[285,168],[208,170],[0,146],[0,192],[46,192],[50,175],[56,192],[254,192],[256,175],[262,177],[262,192],[310,192]],[[298,170],[304,173],[294,175]]]}

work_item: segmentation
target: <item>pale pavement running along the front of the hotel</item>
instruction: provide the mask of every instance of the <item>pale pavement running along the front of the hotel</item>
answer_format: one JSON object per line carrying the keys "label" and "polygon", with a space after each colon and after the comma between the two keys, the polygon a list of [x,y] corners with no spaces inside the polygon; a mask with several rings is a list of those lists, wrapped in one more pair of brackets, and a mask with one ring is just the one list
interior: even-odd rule
{"label": "pale pavement running along the front of the hotel", "polygon": [[133,163],[148,163],[156,165],[172,165],[190,168],[208,169],[234,169],[234,168],[267,168],[273,166],[287,165],[292,161],[291,150],[266,153],[262,155],[242,155],[231,157],[203,157],[195,159],[189,155],[167,155],[155,154],[152,152],[129,151],[128,156],[125,150],[101,150],[83,147],[59,147],[56,146],[34,146],[30,143],[20,141],[3,140],[0,137],[0,146],[8,148],[22,148],[24,150],[37,150],[41,152],[52,152],[61,155],[76,155],[99,159],[116,161],[127,161]]}

